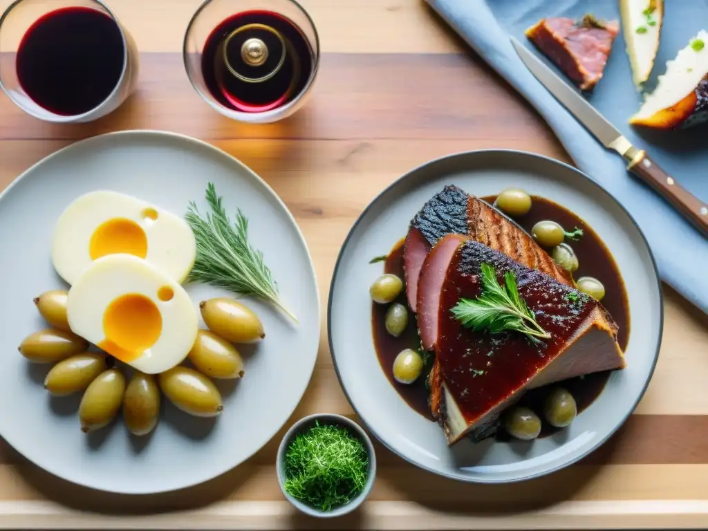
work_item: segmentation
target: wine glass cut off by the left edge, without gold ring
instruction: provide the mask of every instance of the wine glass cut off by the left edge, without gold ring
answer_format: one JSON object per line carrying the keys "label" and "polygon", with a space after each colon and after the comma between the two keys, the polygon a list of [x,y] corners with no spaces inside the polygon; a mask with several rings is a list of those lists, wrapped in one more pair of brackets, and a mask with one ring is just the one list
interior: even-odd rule
{"label": "wine glass cut off by the left edge, without gold ring", "polygon": [[49,122],[89,122],[135,88],[135,42],[101,0],[16,0],[0,18],[0,88]]}

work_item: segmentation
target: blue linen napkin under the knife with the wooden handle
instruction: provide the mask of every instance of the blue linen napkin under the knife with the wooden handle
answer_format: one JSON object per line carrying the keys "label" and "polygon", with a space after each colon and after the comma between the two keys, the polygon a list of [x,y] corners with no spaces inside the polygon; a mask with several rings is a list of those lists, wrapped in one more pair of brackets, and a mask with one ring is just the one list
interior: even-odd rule
{"label": "blue linen napkin under the knife with the wooden handle", "polygon": [[[708,239],[675,210],[627,173],[626,163],[609,152],[528,72],[509,36],[527,41],[524,30],[541,18],[617,19],[617,0],[426,0],[459,35],[524,96],[548,122],[579,169],[608,190],[632,214],[649,240],[662,280],[708,312]],[[661,46],[647,87],[699,30],[708,30],[708,0],[666,1]],[[623,29],[624,31],[624,29]],[[534,49],[535,50],[535,49]],[[615,40],[605,75],[588,97],[636,147],[685,188],[708,200],[708,126],[673,132],[640,132],[627,125],[639,109],[641,94],[632,83],[622,34]],[[631,273],[625,273],[631,274]]]}

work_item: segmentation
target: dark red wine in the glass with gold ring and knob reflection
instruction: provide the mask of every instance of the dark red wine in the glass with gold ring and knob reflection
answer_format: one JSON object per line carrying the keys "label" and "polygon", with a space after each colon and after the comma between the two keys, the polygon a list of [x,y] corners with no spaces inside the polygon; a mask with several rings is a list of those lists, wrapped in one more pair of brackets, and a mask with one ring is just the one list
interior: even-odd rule
{"label": "dark red wine in the glass with gold ring and knob reflection", "polygon": [[242,113],[262,113],[294,100],[307,86],[313,66],[312,47],[302,31],[271,11],[227,18],[209,35],[202,52],[202,75],[210,93]]}

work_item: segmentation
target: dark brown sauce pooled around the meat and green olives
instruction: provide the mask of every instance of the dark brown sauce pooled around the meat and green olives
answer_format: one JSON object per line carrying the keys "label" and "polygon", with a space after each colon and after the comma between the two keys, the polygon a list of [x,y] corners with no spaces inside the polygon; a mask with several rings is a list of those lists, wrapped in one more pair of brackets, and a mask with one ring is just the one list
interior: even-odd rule
{"label": "dark brown sauce pooled around the meat and green olives", "polygon": [[[496,199],[496,196],[482,198],[490,204]],[[582,276],[592,276],[603,282],[605,286],[605,298],[602,301],[603,306],[610,312],[612,318],[615,319],[619,331],[617,333],[617,341],[622,350],[627,348],[629,341],[629,303],[627,302],[627,292],[624,289],[622,276],[619,274],[615,260],[607,251],[605,244],[600,240],[597,234],[590,229],[582,219],[577,217],[564,207],[556,205],[556,203],[544,198],[533,197],[533,206],[525,216],[518,217],[515,221],[520,224],[527,232],[531,232],[532,227],[539,221],[550,219],[561,224],[564,229],[570,231],[573,227],[583,229],[583,236],[578,241],[569,241],[569,245],[573,248],[578,256],[580,264],[574,278]],[[403,268],[403,240],[399,241],[392,249],[384,265],[386,273],[392,273],[404,278]],[[408,306],[406,303],[405,290],[401,293],[399,300],[401,304]],[[427,371],[430,369],[430,363],[426,364],[426,372],[411,385],[400,384],[393,377],[393,362],[396,355],[405,348],[420,349],[420,340],[416,329],[415,319],[409,319],[406,331],[399,338],[394,338],[387,333],[384,326],[384,318],[387,310],[385,304],[373,304],[372,309],[372,331],[374,343],[377,350],[379,362],[384,374],[392,383],[401,397],[418,413],[424,417],[433,420],[428,406],[428,389],[427,389]],[[411,317],[413,314],[411,313]],[[610,371],[598,372],[593,375],[586,375],[554,384],[554,387],[562,385],[571,392],[578,406],[578,413],[586,409],[593,403],[600,393],[605,388],[607,379],[610,377]],[[518,405],[530,407],[539,416],[542,417],[543,404],[551,389],[539,388],[527,392]],[[541,436],[549,435],[555,430],[547,423],[543,423],[543,431]],[[501,432],[502,430],[500,430]],[[498,435],[498,438],[505,437],[503,433]]]}

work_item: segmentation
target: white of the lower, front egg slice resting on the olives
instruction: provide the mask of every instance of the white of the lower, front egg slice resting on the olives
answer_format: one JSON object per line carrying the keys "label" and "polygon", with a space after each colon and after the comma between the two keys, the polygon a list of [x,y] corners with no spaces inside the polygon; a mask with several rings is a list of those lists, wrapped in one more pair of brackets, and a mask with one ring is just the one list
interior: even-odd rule
{"label": "white of the lower, front egg slice resting on the olives", "polygon": [[[172,290],[170,300],[159,298],[161,287]],[[106,310],[116,299],[133,294],[147,297],[155,304],[161,315],[161,332],[152,346],[134,360],[125,362],[147,374],[158,374],[175,367],[186,358],[196,340],[197,311],[176,280],[141,258],[113,254],[93,261],[69,290],[69,327],[100,346],[106,339]]]}

